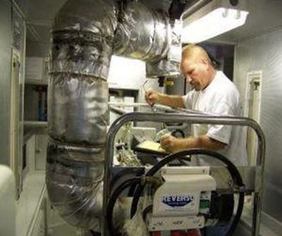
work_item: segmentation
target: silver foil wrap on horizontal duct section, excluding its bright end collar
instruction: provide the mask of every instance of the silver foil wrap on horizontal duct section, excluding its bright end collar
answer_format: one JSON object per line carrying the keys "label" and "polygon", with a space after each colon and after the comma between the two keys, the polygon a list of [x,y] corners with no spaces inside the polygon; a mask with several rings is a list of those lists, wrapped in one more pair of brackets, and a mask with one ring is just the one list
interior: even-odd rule
{"label": "silver foil wrap on horizontal duct section, excluding its bright end collar", "polygon": [[141,2],[128,2],[118,23],[114,54],[159,61],[168,54],[170,25],[163,13]]}

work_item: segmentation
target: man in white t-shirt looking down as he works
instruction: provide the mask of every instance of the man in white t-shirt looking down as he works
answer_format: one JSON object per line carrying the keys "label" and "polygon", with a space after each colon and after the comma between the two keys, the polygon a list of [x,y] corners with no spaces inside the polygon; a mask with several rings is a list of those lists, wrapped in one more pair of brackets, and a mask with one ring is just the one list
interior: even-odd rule
{"label": "man in white t-shirt looking down as he works", "polygon": [[[183,97],[161,94],[149,89],[145,99],[149,105],[162,104],[174,108],[188,108],[221,115],[240,116],[240,95],[233,82],[214,68],[207,51],[201,46],[189,44],[183,48],[181,71],[192,91]],[[161,138],[161,147],[169,152],[202,147],[212,149],[228,157],[235,165],[247,164],[242,128],[231,125],[192,125],[193,137],[178,139],[171,135]],[[205,164],[207,159],[197,159]],[[219,163],[209,159],[209,164]]]}

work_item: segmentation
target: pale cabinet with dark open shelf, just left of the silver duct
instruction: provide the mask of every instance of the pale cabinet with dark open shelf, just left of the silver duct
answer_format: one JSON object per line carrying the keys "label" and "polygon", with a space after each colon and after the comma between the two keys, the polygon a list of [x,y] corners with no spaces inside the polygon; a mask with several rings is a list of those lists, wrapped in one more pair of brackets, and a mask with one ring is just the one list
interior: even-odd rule
{"label": "pale cabinet with dark open shelf, just left of the silver duct", "polygon": [[[47,153],[47,59],[30,56],[25,69],[25,136],[33,135],[34,159],[30,170],[45,170]],[[30,158],[26,155],[27,159]]]}

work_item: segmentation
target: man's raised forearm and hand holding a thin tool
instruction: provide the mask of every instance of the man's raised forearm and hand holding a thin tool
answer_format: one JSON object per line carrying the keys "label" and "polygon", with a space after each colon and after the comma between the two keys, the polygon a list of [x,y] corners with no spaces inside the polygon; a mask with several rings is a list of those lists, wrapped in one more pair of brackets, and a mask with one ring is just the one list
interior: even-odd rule
{"label": "man's raised forearm and hand holding a thin tool", "polygon": [[145,93],[145,100],[150,106],[154,104],[161,104],[164,106],[171,106],[173,108],[185,108],[183,98],[176,95],[161,94],[152,89]]}

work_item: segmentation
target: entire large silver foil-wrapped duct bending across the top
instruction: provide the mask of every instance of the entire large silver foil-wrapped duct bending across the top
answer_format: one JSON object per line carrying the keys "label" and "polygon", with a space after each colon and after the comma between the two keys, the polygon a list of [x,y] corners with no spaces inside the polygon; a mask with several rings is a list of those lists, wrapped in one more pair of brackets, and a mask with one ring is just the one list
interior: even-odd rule
{"label": "entire large silver foil-wrapped duct bending across the top", "polygon": [[[69,0],[53,25],[48,87],[47,190],[72,225],[99,230],[111,55],[179,73],[178,21],[140,1]],[[148,69],[149,68],[149,69]]]}

